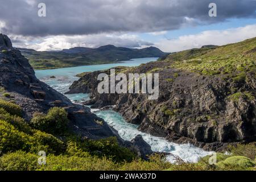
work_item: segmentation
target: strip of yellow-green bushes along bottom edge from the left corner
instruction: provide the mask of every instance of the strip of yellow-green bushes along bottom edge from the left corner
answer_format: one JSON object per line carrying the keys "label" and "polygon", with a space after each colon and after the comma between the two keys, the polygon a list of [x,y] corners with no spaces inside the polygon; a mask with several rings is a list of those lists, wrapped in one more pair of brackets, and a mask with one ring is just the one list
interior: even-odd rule
{"label": "strip of yellow-green bushes along bottom edge from the left corner", "polygon": [[46,170],[46,171],[113,171],[113,170],[163,170],[170,167],[170,163],[164,162],[160,156],[147,162],[144,160],[134,160],[131,163],[115,163],[106,157],[97,156],[69,156],[69,155],[47,155],[46,165],[38,164],[38,155],[22,151],[5,154],[0,158],[0,170]]}

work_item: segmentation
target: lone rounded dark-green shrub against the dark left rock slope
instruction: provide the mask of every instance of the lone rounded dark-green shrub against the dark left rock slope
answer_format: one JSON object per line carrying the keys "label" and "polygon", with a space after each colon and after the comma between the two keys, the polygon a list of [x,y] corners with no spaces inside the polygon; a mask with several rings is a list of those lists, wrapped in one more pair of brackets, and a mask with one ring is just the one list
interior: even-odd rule
{"label": "lone rounded dark-green shrub against the dark left rock slope", "polygon": [[31,124],[36,129],[51,134],[63,134],[67,131],[68,122],[67,111],[60,107],[49,109],[46,115],[43,113],[35,113],[31,120]]}

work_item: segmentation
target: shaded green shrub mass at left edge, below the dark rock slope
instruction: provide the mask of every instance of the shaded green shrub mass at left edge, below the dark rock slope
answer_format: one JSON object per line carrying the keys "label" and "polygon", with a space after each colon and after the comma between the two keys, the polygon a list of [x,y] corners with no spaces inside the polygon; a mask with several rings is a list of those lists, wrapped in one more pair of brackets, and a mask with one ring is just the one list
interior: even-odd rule
{"label": "shaded green shrub mass at left edge, below the dark rock slope", "polygon": [[32,130],[26,124],[15,124],[18,127],[24,126],[24,128],[20,131],[10,123],[0,121],[0,151],[3,154],[17,150],[34,152],[36,154],[41,150],[47,152],[47,154],[60,154],[65,151],[64,143],[53,137],[53,135],[39,130]]}

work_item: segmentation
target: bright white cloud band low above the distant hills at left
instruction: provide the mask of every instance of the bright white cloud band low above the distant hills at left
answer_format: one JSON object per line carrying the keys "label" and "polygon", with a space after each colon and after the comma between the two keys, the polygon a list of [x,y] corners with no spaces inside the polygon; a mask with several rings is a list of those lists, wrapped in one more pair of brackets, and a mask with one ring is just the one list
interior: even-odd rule
{"label": "bright white cloud band low above the distant hills at left", "polygon": [[57,35],[45,38],[11,36],[11,39],[14,40],[15,47],[32,48],[37,51],[62,50],[72,47],[95,48],[106,44],[129,48],[153,45],[150,42],[139,39],[137,35],[130,34]]}

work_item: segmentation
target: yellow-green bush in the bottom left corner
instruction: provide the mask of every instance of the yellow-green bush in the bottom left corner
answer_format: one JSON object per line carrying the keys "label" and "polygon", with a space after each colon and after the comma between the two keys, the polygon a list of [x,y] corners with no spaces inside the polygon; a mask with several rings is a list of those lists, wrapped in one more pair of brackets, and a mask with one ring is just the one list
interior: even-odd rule
{"label": "yellow-green bush in the bottom left corner", "polygon": [[5,154],[0,158],[0,171],[34,171],[38,156],[22,151]]}

